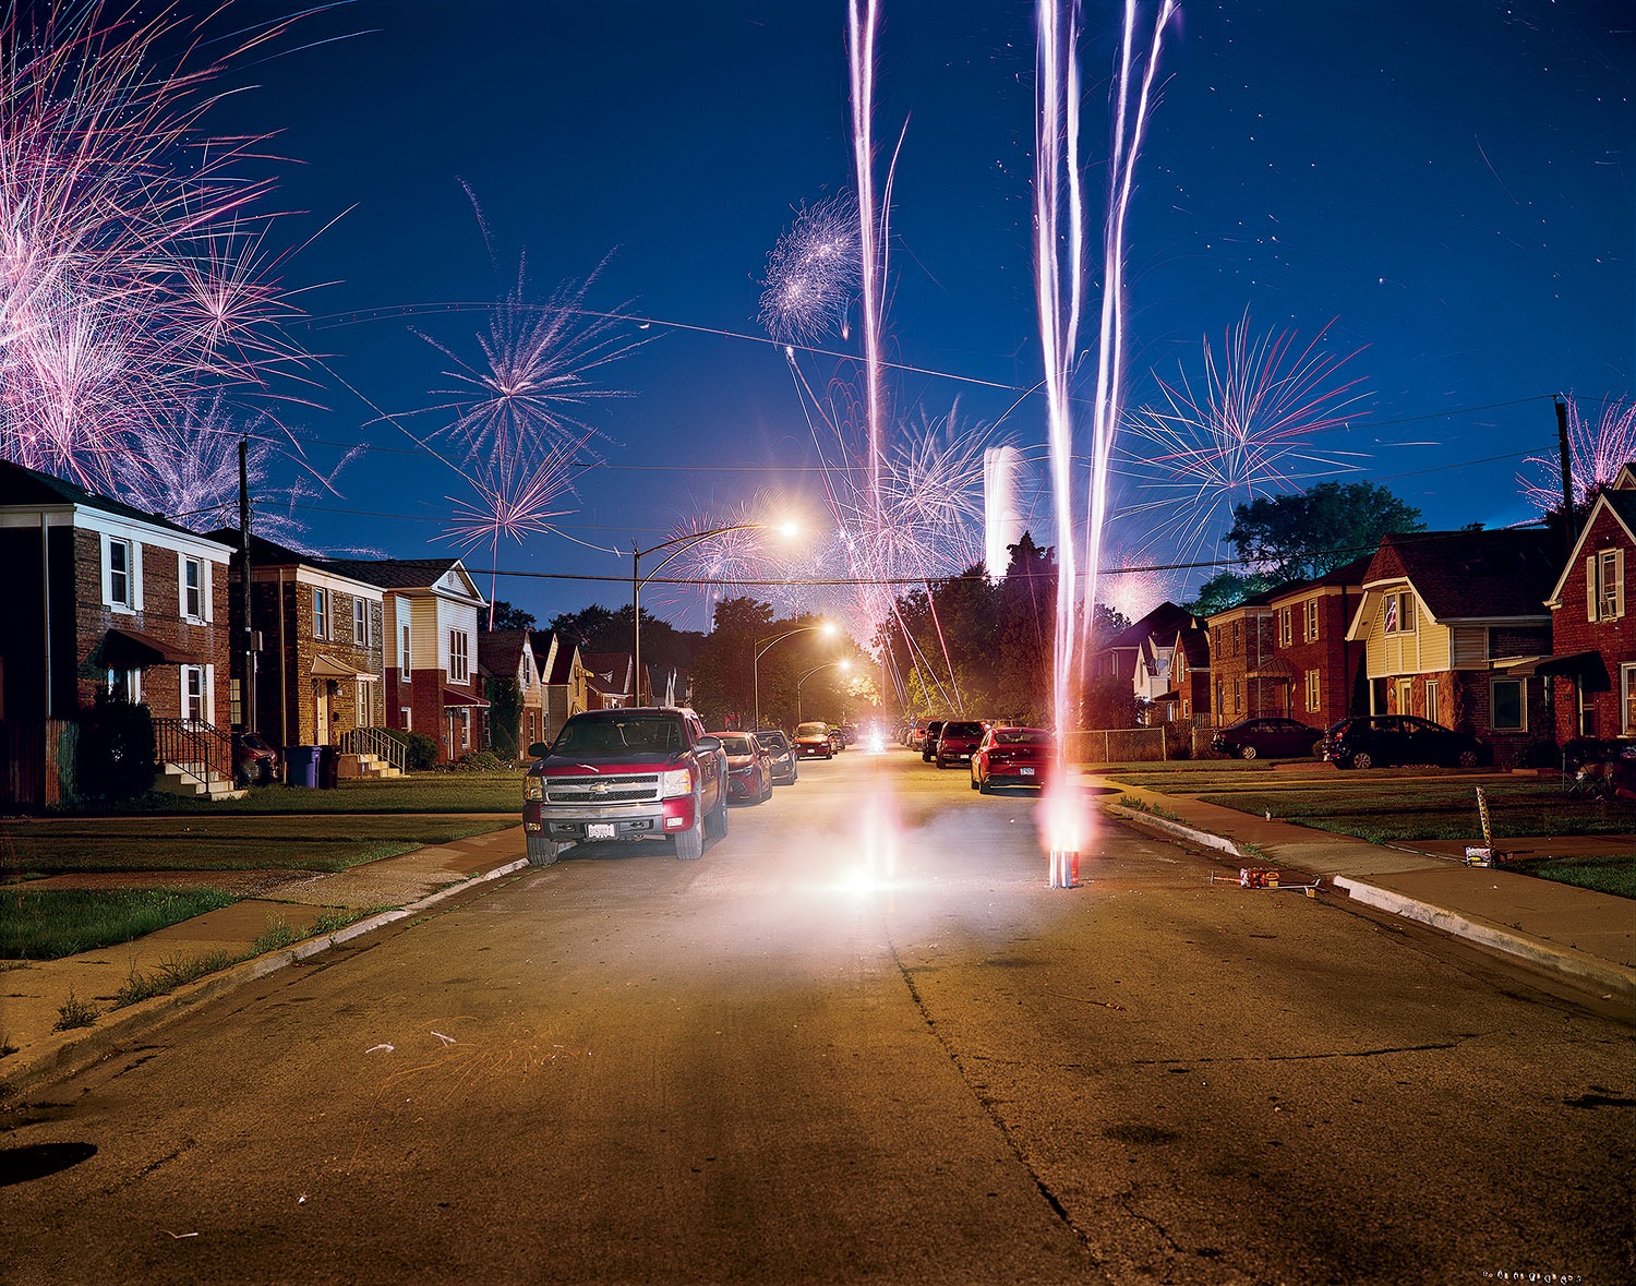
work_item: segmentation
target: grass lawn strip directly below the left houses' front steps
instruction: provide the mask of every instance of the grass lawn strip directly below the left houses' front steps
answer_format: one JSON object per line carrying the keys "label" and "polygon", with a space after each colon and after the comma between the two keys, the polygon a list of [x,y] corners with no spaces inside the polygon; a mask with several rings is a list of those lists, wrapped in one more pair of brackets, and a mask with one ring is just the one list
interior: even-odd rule
{"label": "grass lawn strip directly below the left houses' front steps", "polygon": [[85,803],[75,816],[97,813],[515,813],[522,815],[522,769],[501,772],[412,772],[391,780],[344,780],[334,790],[258,785],[242,800],[182,798],[149,794],[119,805]]}

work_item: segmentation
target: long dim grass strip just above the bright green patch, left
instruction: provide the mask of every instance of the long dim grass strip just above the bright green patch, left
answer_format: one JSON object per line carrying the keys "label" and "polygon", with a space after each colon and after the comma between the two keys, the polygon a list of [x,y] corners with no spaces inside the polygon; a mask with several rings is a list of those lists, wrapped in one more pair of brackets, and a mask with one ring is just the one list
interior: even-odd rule
{"label": "long dim grass strip just above the bright green patch, left", "polygon": [[[342,794],[342,792],[309,792]],[[506,826],[460,816],[203,816],[13,821],[8,877],[92,870],[345,870]]]}

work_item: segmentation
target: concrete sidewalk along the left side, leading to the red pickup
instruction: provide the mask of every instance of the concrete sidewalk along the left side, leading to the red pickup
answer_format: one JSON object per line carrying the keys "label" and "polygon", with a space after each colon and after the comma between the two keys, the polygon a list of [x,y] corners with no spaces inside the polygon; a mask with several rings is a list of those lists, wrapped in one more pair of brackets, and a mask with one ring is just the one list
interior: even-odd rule
{"label": "concrete sidewalk along the left side, leading to the red pickup", "polygon": [[[165,1014],[208,996],[272,973],[335,942],[345,942],[402,920],[484,880],[527,866],[522,828],[474,834],[448,844],[427,844],[398,857],[350,867],[334,875],[311,870],[227,870],[201,879],[200,872],[152,872],[142,885],[221,887],[244,898],[219,911],[185,920],[159,933],[103,951],[87,951],[62,960],[31,960],[0,973],[0,1106],[31,1085],[65,1077],[129,1044]],[[57,877],[33,888],[133,884],[131,875]],[[245,957],[270,928],[306,933],[324,913],[363,913],[342,929],[299,941],[291,947],[245,959],[170,995],[152,996],[113,1009],[113,995],[133,975],[162,975],[167,965],[214,954]],[[56,1031],[62,1006],[93,1005],[101,1016],[88,1027]]]}

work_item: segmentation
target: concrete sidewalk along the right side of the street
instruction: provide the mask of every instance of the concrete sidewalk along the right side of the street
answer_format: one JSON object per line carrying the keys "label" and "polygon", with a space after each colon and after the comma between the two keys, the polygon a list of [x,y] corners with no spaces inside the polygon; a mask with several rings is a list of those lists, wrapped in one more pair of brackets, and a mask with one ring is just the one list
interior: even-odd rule
{"label": "concrete sidewalk along the right side of the street", "polygon": [[[1219,849],[1245,866],[1320,879],[1356,902],[1574,978],[1620,1001],[1636,1019],[1636,902],[1629,898],[1500,867],[1466,866],[1463,844],[1371,844],[1091,774],[1085,780],[1090,787],[1108,787],[1108,798],[1124,795],[1163,813],[1104,803],[1127,821]],[[1507,844],[1553,857],[1636,851],[1636,839],[1611,836],[1549,836]],[[1296,882],[1284,877],[1284,884]]]}

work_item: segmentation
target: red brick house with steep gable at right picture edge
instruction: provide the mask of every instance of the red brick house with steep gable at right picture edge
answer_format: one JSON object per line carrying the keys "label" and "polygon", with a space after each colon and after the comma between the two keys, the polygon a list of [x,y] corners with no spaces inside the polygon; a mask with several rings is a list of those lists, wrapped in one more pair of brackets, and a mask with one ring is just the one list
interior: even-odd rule
{"label": "red brick house with steep gable at right picture edge", "polygon": [[1625,594],[1625,569],[1636,566],[1636,491],[1620,484],[1629,473],[1626,465],[1620,481],[1597,496],[1546,599],[1556,654],[1535,672],[1554,684],[1559,743],[1636,738],[1636,622]]}

